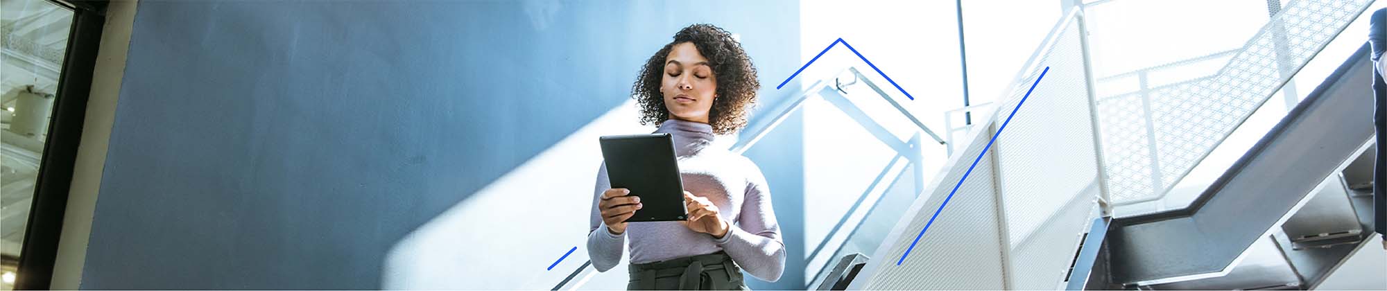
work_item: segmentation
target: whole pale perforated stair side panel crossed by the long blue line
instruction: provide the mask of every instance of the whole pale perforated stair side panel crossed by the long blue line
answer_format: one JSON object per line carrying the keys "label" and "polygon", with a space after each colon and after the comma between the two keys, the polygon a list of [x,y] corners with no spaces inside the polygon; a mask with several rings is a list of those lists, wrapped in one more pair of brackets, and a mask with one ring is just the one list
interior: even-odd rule
{"label": "whole pale perforated stair side panel crossed by the long blue line", "polygon": [[[1101,188],[1080,19],[1074,12],[1057,25],[989,122],[979,123],[988,127],[970,133],[895,242],[877,252],[863,288],[1049,290],[1064,281]],[[992,150],[896,266],[997,129]]]}

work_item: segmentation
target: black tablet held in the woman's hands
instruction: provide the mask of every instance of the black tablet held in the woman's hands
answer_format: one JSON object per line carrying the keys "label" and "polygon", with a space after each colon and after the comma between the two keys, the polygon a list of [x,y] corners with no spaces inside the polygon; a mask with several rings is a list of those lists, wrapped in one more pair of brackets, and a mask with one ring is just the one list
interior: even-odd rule
{"label": "black tablet held in the woman's hands", "polygon": [[603,136],[599,141],[612,187],[641,197],[641,209],[626,222],[684,220],[684,182],[669,133]]}

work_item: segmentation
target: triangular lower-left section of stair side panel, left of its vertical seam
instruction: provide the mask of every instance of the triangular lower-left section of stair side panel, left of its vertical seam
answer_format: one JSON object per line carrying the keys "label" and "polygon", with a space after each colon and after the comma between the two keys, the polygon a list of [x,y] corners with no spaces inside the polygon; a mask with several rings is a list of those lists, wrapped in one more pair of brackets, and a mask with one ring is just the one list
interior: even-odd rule
{"label": "triangular lower-left section of stair side panel, left of its vertical seam", "polygon": [[[990,132],[992,130],[982,130]],[[988,139],[974,139],[963,157],[978,157]],[[990,157],[990,155],[989,155]],[[968,170],[972,158],[958,161],[945,173],[943,182],[932,191],[921,195],[927,200],[918,212],[908,213],[908,226],[892,244],[889,251],[872,263],[878,272],[867,279],[867,290],[1001,290],[1001,241],[999,238],[996,200],[993,193],[992,158],[983,157],[939,213],[929,231],[920,238],[906,261],[896,262],[910,247],[925,222],[943,202],[954,183]]]}

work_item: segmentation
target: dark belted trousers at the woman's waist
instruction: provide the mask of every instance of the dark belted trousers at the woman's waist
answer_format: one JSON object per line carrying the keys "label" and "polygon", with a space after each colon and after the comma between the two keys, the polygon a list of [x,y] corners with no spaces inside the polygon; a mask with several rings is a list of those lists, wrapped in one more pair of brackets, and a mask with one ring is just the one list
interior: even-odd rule
{"label": "dark belted trousers at the woman's waist", "polygon": [[627,290],[749,290],[727,252],[631,265]]}

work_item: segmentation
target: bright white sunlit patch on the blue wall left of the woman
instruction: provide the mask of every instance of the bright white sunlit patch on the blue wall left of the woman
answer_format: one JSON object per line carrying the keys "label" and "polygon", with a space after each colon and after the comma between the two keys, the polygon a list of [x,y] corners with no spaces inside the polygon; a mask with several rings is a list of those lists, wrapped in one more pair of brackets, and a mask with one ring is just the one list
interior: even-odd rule
{"label": "bright white sunlit patch on the blue wall left of the woman", "polygon": [[[627,101],[405,236],[386,256],[384,288],[553,288],[588,259],[598,137],[651,132],[638,118]],[[603,276],[620,285],[589,287],[626,288],[626,269],[613,270]]]}

